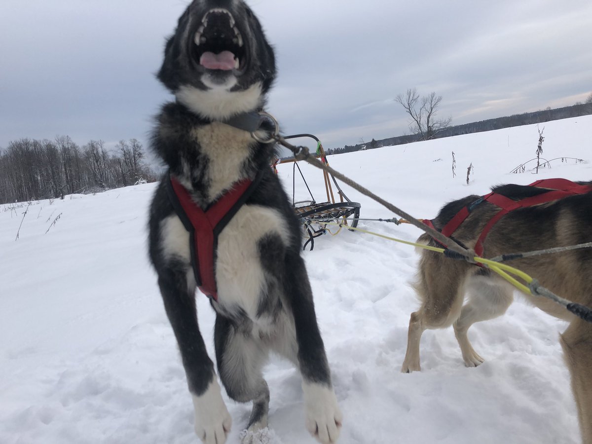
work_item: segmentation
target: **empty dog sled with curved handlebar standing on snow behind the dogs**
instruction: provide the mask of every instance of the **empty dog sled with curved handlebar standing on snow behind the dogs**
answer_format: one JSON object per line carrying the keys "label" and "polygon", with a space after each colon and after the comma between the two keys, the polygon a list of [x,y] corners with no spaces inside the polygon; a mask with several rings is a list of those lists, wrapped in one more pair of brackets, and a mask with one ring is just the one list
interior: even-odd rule
{"label": "empty dog sled with curved handlebar standing on snow behind the dogs", "polygon": [[[314,139],[317,143],[316,157],[320,159],[325,165],[329,165],[329,162],[327,162],[325,150],[323,149],[323,144],[321,144],[321,141],[318,140],[316,136],[313,136],[312,134],[294,134],[294,136],[286,136],[284,139],[297,139],[298,137],[310,137],[311,139]],[[296,212],[298,218],[303,221],[304,229],[308,233],[308,240],[304,243],[303,249],[306,249],[307,245],[310,243],[310,249],[312,250],[314,248],[314,238],[321,236],[321,234],[327,233],[326,226],[322,224],[322,222],[334,221],[354,228],[358,226],[361,205],[358,202],[352,202],[349,200],[349,198],[340,188],[339,184],[337,184],[337,181],[333,175],[323,171],[327,201],[317,202],[313,196],[313,193],[308,187],[306,179],[304,178],[302,170],[300,169],[300,166],[298,166],[296,159],[292,157],[278,160],[278,162],[274,163],[273,165],[274,171],[276,173],[278,172],[278,170],[275,168],[276,165],[290,162],[294,164],[294,174],[292,175],[292,206],[294,207],[294,211]],[[298,172],[300,172],[304,184],[308,189],[308,194],[310,194],[311,198],[310,201],[294,201],[296,168],[298,168]],[[337,188],[337,194],[339,194],[338,202],[335,201],[332,182],[335,188]]]}

